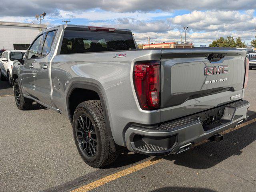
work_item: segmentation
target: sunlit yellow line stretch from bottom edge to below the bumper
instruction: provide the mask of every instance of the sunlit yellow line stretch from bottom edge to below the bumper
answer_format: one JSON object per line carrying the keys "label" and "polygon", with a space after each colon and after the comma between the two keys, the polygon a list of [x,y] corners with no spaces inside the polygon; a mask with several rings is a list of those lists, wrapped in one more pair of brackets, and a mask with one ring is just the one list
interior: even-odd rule
{"label": "sunlit yellow line stretch from bottom edge to below the bumper", "polygon": [[104,178],[102,178],[100,180],[94,181],[94,182],[92,182],[90,184],[87,184],[85,186],[77,188],[77,189],[73,190],[72,192],[86,192],[86,191],[92,190],[92,189],[94,189],[96,187],[99,187],[99,186],[102,186],[103,184],[106,184],[106,183],[108,183],[110,181],[116,180],[116,179],[118,179],[120,177],[126,176],[128,174],[131,174],[133,172],[136,172],[136,171],[141,170],[143,168],[146,168],[148,166],[154,165],[154,164],[160,162],[160,160],[161,159],[153,158],[152,160],[148,160],[148,161],[143,162],[141,164],[132,166],[132,167],[130,167],[128,169],[122,170],[120,172],[117,172],[117,173],[114,173],[112,175],[106,176],[106,177],[104,177]]}

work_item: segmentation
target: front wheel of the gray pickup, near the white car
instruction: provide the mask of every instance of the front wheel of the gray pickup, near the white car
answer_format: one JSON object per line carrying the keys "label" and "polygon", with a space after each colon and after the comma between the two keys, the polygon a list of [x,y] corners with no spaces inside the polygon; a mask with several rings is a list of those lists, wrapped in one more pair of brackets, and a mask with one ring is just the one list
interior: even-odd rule
{"label": "front wheel of the gray pickup, near the white car", "polygon": [[15,97],[15,102],[19,110],[28,110],[32,107],[32,100],[28,100],[24,98],[20,86],[20,80],[17,78],[14,81],[14,97]]}

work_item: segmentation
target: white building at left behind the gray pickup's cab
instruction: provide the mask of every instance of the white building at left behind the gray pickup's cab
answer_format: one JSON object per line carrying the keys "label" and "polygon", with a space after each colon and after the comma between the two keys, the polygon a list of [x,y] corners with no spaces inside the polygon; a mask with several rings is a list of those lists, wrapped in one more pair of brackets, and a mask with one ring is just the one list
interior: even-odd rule
{"label": "white building at left behind the gray pickup's cab", "polygon": [[34,38],[47,26],[0,21],[0,49],[27,50]]}

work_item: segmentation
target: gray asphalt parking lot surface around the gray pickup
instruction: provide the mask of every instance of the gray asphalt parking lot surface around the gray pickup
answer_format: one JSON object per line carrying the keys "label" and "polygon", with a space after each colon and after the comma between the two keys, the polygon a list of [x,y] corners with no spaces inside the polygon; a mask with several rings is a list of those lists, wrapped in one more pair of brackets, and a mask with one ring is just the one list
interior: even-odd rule
{"label": "gray asphalt parking lot surface around the gray pickup", "polygon": [[163,158],[121,154],[104,169],[82,161],[68,118],[36,103],[20,111],[12,94],[0,81],[0,191],[256,191],[256,69],[245,94],[250,118],[223,142]]}

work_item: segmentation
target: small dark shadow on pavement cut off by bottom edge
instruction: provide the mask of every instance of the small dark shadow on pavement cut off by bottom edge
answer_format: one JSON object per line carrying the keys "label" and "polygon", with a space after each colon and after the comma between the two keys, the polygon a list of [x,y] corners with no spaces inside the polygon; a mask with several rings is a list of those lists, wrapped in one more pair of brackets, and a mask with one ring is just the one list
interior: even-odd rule
{"label": "small dark shadow on pavement cut off by bottom edge", "polygon": [[150,192],[217,192],[206,188],[190,188],[190,187],[164,187]]}

